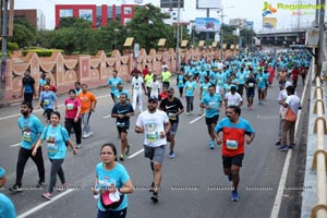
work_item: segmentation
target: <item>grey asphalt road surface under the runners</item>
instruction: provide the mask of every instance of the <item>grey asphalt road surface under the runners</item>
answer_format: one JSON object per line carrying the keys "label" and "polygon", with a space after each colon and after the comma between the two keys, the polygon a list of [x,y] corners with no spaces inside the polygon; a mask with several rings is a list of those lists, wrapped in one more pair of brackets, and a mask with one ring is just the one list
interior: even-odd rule
{"label": "grey asphalt road surface under the runners", "polygon": [[[299,85],[298,95],[301,97],[303,86]],[[130,84],[126,85],[130,89]],[[96,199],[90,193],[95,180],[95,166],[100,161],[100,147],[106,142],[120,145],[117,137],[114,119],[110,118],[112,101],[107,88],[93,90],[98,97],[96,112],[92,116],[90,125],[94,135],[83,140],[83,148],[74,157],[71,153],[63,164],[66,181],[71,190],[57,193],[55,199],[46,202],[40,197],[43,190],[25,190],[20,194],[8,192],[15,180],[15,165],[17,159],[20,131],[17,118],[20,106],[0,109],[0,166],[7,169],[7,184],[3,193],[12,198],[19,217],[96,217]],[[250,120],[256,130],[256,138],[246,146],[246,153],[241,169],[239,187],[240,202],[230,202],[230,187],[227,177],[222,173],[220,147],[211,150],[208,146],[208,134],[204,118],[197,117],[199,112],[198,98],[195,99],[195,113],[180,118],[177,134],[175,158],[168,158],[168,150],[164,161],[162,191],[159,193],[159,203],[154,205],[150,193],[144,190],[152,182],[149,162],[143,157],[143,135],[134,132],[136,113],[131,120],[129,141],[132,144],[130,158],[122,164],[128,169],[135,186],[133,194],[129,195],[128,217],[186,217],[186,218],[268,218],[271,211],[277,211],[278,217],[299,217],[301,205],[302,184],[301,171],[305,158],[305,119],[301,121],[296,134],[296,147],[292,154],[281,153],[275,146],[278,130],[277,104],[279,88],[275,83],[269,88],[267,101],[264,106],[255,101],[254,110],[242,107],[242,117]],[[198,94],[198,92],[197,92]],[[66,96],[58,98],[58,105]],[[182,99],[185,106],[185,99]],[[144,105],[145,106],[145,105]],[[305,109],[305,106],[304,106]],[[63,113],[63,107],[59,107]],[[41,116],[40,110],[35,114]],[[223,112],[221,117],[225,117]],[[63,123],[63,120],[61,121]],[[71,137],[74,141],[74,135]],[[44,144],[45,146],[45,144]],[[120,146],[118,146],[120,148]],[[50,165],[44,149],[46,162],[46,182],[49,183]],[[280,178],[284,169],[284,161],[289,159],[289,171],[286,175],[284,192],[276,203]],[[37,170],[32,160],[25,168],[23,178],[24,186],[37,183]],[[296,189],[295,189],[296,187]],[[307,187],[311,189],[311,187]],[[314,189],[314,187],[312,187]],[[281,207],[279,207],[281,203]],[[277,205],[276,205],[277,204]],[[275,205],[275,209],[274,208]]]}

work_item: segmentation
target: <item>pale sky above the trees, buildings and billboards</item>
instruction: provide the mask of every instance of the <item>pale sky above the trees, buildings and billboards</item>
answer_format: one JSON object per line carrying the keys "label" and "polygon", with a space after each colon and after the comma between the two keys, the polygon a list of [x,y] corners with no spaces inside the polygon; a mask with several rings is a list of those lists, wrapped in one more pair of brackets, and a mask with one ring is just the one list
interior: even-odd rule
{"label": "pale sky above the trees, buildings and billboards", "polygon": [[[184,0],[185,4],[194,0]],[[223,5],[223,23],[228,24],[230,19],[246,19],[246,21],[254,22],[254,29],[261,32],[263,26],[263,8],[265,0],[221,0]],[[266,0],[274,8],[278,3],[294,4],[294,3],[312,3],[315,0]],[[46,16],[46,28],[52,29],[55,27],[55,5],[56,4],[121,4],[123,2],[131,2],[130,0],[15,0],[15,9],[38,9],[43,11]],[[213,11],[213,10],[210,10]],[[217,10],[216,10],[217,11]],[[314,21],[314,10],[301,10],[303,15],[293,15],[289,10],[277,10],[276,13],[269,14],[266,17],[276,17],[276,29],[295,28],[300,23],[301,27],[308,26]],[[306,14],[304,14],[306,13]],[[213,13],[211,13],[213,14]],[[210,14],[210,16],[211,16]],[[216,16],[218,16],[216,12]],[[197,14],[194,14],[197,17]]]}

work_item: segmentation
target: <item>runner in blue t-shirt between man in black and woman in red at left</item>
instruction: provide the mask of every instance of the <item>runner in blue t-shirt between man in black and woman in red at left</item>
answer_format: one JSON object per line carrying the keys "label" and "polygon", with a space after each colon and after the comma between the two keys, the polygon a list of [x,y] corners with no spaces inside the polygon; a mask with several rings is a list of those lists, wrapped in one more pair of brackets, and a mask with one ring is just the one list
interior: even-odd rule
{"label": "runner in blue t-shirt between man in black and woman in red at left", "polygon": [[48,84],[45,85],[45,89],[46,90],[40,93],[37,108],[44,108],[44,116],[46,116],[47,122],[50,122],[51,113],[58,109],[57,96],[52,90],[50,90],[50,86]]}

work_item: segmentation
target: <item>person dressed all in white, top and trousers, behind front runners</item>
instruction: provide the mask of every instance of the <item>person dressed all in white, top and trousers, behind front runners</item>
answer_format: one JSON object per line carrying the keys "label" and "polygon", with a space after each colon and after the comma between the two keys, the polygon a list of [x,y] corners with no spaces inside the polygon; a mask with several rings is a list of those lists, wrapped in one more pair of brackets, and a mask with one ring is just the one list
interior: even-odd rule
{"label": "person dressed all in white, top and trousers, behind front runners", "polygon": [[[146,93],[144,81],[140,76],[140,73],[135,73],[132,78],[132,97],[133,97],[133,109],[136,110],[136,105],[138,104],[140,112],[143,111],[143,89]],[[138,100],[137,100],[138,99]]]}

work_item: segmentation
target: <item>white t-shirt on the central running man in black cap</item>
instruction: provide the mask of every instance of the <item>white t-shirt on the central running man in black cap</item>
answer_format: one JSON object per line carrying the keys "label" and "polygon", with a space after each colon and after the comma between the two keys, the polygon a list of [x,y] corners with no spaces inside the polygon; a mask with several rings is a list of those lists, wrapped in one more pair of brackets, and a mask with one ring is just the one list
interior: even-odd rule
{"label": "white t-shirt on the central running man in black cap", "polygon": [[165,123],[169,121],[166,112],[156,110],[150,113],[148,110],[142,112],[136,121],[136,126],[144,128],[144,145],[158,147],[167,144],[166,137],[160,137],[165,132]]}

